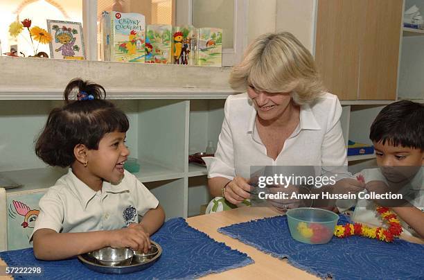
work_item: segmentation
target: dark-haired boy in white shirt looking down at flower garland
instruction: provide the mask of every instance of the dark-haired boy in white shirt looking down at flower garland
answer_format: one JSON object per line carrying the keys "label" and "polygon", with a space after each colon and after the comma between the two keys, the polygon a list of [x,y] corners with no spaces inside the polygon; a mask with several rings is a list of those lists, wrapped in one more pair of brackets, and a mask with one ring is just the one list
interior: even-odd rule
{"label": "dark-haired boy in white shirt looking down at flower garland", "polygon": [[339,211],[356,203],[353,222],[381,227],[376,212],[380,204],[396,213],[405,234],[424,237],[424,105],[409,100],[387,105],[371,125],[369,137],[379,168],[357,174],[365,183],[364,193],[399,193],[403,199],[366,199],[362,193],[357,201],[338,200]]}

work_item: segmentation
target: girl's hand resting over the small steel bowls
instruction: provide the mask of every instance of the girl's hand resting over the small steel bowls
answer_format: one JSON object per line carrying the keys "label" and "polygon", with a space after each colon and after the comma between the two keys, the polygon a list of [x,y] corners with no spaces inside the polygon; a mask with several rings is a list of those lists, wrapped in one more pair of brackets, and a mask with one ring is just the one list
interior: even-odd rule
{"label": "girl's hand resting over the small steel bowls", "polygon": [[147,253],[150,247],[150,237],[144,231],[142,225],[134,224],[123,229],[112,230],[109,246],[116,248],[130,247],[132,250]]}

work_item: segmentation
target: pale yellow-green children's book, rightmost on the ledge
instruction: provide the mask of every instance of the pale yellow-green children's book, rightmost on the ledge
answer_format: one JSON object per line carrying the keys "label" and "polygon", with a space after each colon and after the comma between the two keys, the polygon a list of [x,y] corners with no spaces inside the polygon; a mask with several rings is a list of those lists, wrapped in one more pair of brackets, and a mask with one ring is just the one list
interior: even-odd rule
{"label": "pale yellow-green children's book, rightmost on the ledge", "polygon": [[222,66],[222,29],[199,28],[199,40],[197,44],[197,65]]}

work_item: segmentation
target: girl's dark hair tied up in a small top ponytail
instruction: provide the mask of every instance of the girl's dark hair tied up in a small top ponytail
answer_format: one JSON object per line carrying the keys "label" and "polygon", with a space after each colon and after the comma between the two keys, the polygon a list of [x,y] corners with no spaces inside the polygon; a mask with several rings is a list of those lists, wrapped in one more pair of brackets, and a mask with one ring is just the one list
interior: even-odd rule
{"label": "girl's dark hair tied up in a small top ponytail", "polygon": [[[81,93],[93,99],[77,100],[76,95]],[[35,154],[48,165],[67,167],[76,159],[73,155],[76,145],[84,144],[90,150],[97,150],[106,133],[127,132],[130,127],[127,116],[105,97],[101,85],[71,80],[64,90],[65,105],[48,114],[35,143]]]}

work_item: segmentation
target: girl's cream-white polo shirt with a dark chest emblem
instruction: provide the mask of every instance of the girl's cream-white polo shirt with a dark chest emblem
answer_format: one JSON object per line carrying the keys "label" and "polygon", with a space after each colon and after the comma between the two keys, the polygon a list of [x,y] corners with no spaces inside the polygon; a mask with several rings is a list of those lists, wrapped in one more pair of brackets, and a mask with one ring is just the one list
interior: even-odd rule
{"label": "girl's cream-white polo shirt with a dark chest emblem", "polygon": [[57,232],[121,229],[139,222],[139,216],[158,204],[157,198],[127,170],[119,184],[103,182],[100,191],[93,191],[69,168],[39,200],[33,233],[45,228]]}

